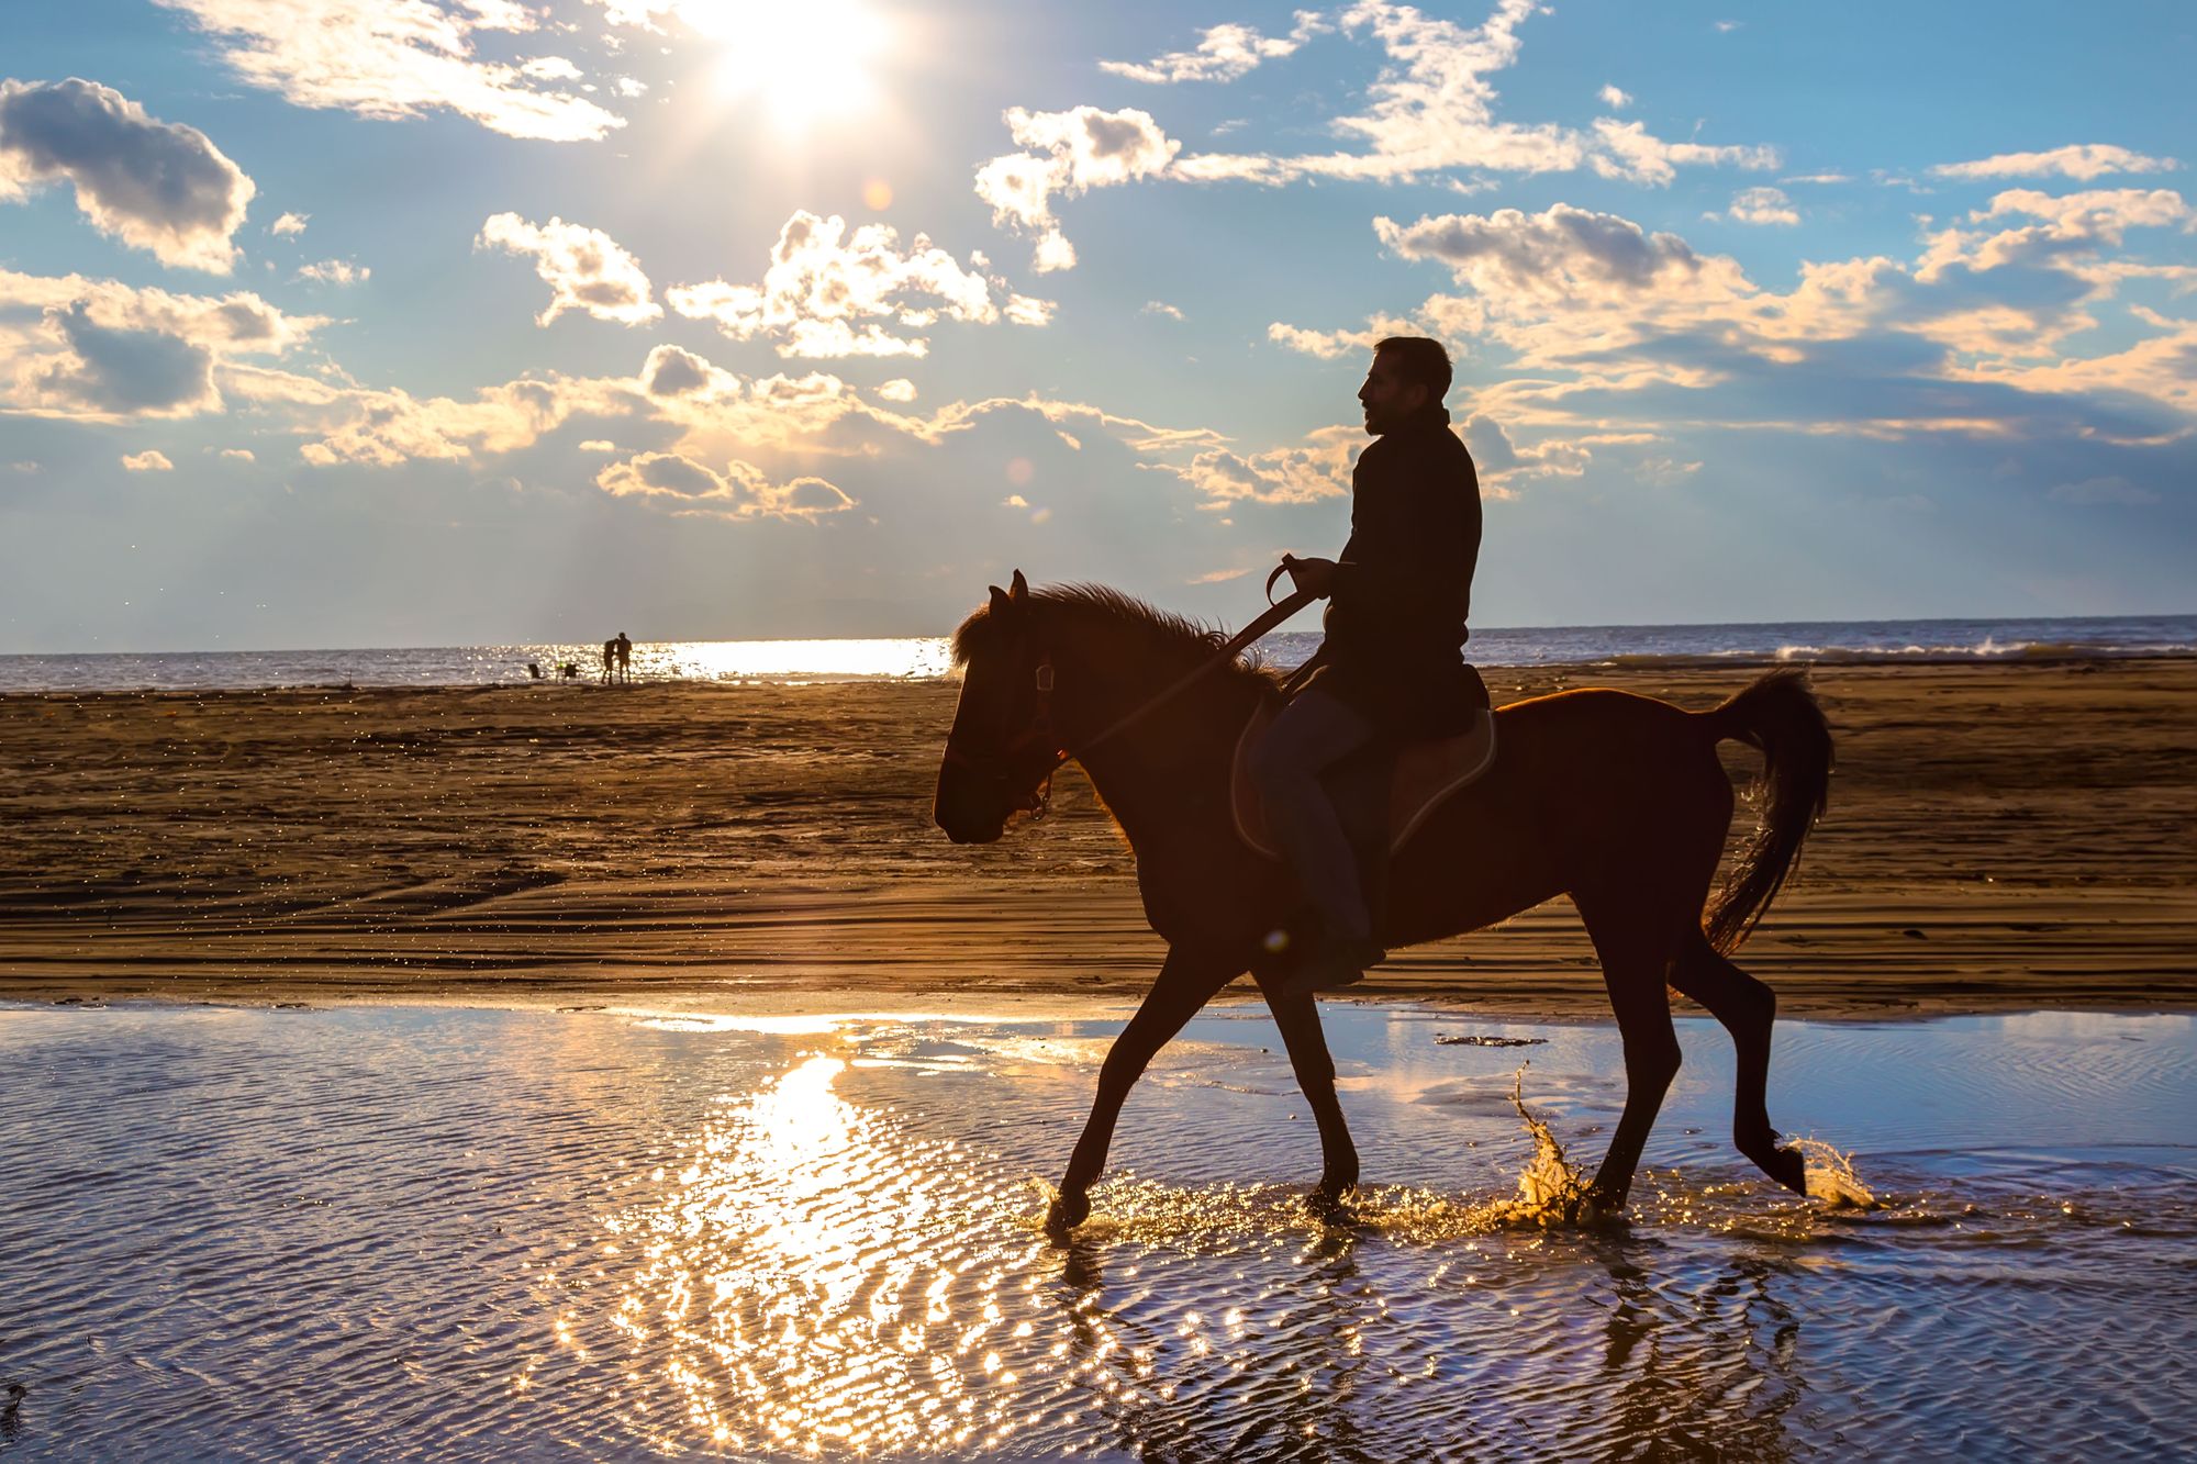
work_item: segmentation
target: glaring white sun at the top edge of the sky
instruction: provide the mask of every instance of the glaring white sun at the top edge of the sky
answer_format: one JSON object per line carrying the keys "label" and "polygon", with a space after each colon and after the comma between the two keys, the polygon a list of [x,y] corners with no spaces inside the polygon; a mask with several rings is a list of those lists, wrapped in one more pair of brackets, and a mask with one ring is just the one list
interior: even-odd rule
{"label": "glaring white sun at the top edge of the sky", "polygon": [[872,64],[888,24],[861,0],[688,0],[679,13],[723,48],[718,88],[754,97],[780,127],[806,130],[877,101]]}

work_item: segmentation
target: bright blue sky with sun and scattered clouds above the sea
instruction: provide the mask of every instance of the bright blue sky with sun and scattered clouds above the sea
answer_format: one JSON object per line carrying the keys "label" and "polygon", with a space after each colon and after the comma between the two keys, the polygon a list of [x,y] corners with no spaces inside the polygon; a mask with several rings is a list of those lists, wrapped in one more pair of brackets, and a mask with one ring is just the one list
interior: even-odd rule
{"label": "bright blue sky with sun and scattered clouds above the sea", "polygon": [[[1437,334],[1485,624],[2190,611],[2197,11],[79,0],[0,648],[1248,620]],[[609,626],[609,629],[606,629]]]}

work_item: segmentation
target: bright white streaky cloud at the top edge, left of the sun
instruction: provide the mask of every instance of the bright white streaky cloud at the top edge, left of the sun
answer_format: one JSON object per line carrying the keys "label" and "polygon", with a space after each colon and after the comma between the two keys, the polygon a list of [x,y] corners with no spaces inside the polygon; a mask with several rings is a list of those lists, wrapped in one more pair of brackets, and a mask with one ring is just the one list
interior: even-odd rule
{"label": "bright white streaky cloud at the top edge, left of the sun", "polygon": [[[562,90],[569,64],[483,62],[481,31],[532,31],[536,15],[512,0],[158,0],[213,37],[248,86],[301,108],[409,119],[448,110],[490,132],[551,143],[593,141],[624,121]],[[532,70],[529,70],[532,66]]]}

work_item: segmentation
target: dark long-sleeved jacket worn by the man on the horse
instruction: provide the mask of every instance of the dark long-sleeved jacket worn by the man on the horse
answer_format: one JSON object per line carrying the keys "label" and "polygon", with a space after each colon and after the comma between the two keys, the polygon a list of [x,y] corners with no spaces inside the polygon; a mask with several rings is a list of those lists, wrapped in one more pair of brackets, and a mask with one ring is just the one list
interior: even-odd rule
{"label": "dark long-sleeved jacket worn by the man on the horse", "polygon": [[1463,657],[1479,556],[1479,475],[1450,413],[1432,402],[1358,455],[1351,539],[1309,686],[1395,741],[1465,732],[1487,708]]}

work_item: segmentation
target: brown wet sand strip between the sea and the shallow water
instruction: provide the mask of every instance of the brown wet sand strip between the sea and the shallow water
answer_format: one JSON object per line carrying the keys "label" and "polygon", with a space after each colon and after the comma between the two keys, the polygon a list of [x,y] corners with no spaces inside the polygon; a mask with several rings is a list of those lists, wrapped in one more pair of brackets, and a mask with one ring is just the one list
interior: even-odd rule
{"label": "brown wet sand strip between the sea and the shallow water", "polygon": [[[1494,670],[1711,706],[1744,668]],[[1788,1016],[2197,1007],[2197,662],[1826,666],[1830,813],[1742,963]],[[1074,769],[929,824],[951,684],[0,697],[0,998],[1088,1011],[1160,958]],[[1738,778],[1758,758],[1729,747]],[[1744,813],[1742,813],[1744,827]],[[1237,994],[1248,994],[1239,983]],[[1569,903],[1362,994],[1604,1016]]]}

